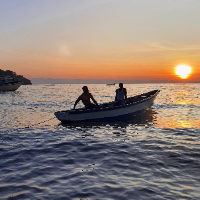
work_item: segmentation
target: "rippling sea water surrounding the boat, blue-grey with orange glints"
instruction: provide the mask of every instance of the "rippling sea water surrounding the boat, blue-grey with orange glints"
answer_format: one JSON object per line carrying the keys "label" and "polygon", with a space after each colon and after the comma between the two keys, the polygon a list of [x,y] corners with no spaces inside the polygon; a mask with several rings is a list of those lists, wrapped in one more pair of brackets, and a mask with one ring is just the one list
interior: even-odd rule
{"label": "rippling sea water surrounding the boat, blue-grey with orange glints", "polygon": [[[98,103],[118,88],[87,86]],[[72,109],[82,87],[0,93],[0,199],[200,199],[200,84],[124,84],[128,97],[160,93],[140,116],[62,124],[54,112]]]}

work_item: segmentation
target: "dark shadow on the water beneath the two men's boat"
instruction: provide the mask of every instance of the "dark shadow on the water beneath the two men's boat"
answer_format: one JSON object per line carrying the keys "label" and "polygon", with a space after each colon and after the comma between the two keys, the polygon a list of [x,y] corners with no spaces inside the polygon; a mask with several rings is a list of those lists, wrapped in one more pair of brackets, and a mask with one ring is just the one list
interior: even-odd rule
{"label": "dark shadow on the water beneath the two men's boat", "polygon": [[156,112],[149,109],[138,116],[132,116],[115,122],[73,122],[73,123],[60,123],[58,126],[67,128],[74,127],[94,127],[94,126],[114,126],[114,127],[127,127],[127,126],[152,126],[156,119]]}

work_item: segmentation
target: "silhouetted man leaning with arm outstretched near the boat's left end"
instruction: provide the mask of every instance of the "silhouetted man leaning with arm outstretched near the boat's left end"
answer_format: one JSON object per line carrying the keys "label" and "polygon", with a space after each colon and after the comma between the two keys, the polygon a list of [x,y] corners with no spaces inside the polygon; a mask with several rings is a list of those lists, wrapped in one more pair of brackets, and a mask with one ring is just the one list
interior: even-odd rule
{"label": "silhouetted man leaning with arm outstretched near the boat's left end", "polygon": [[[77,103],[81,100],[83,102],[83,104],[85,105],[86,109],[92,109],[92,108],[99,108],[99,105],[97,103],[97,101],[94,99],[94,97],[92,96],[91,93],[89,93],[88,87],[87,86],[83,86],[83,94],[81,94],[78,99],[75,101],[74,104],[74,109],[77,105]],[[95,103],[91,103],[90,99],[92,99],[92,101]]]}

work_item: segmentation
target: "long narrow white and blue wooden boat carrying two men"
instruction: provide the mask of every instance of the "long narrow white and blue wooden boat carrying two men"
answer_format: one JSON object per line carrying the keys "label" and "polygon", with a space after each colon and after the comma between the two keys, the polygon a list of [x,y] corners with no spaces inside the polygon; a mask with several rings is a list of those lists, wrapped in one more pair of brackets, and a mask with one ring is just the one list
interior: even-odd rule
{"label": "long narrow white and blue wooden boat carrying two men", "polygon": [[99,108],[57,111],[54,115],[62,123],[118,121],[145,112],[152,106],[159,92],[159,90],[153,90],[129,97],[124,105],[115,106],[115,102],[112,101],[100,104]]}

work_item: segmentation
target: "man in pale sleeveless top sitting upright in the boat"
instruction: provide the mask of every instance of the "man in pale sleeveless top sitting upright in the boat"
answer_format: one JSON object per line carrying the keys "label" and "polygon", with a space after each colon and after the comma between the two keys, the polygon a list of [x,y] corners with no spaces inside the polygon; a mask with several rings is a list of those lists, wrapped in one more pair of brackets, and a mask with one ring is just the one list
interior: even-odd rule
{"label": "man in pale sleeveless top sitting upright in the boat", "polygon": [[123,87],[123,83],[119,83],[119,89],[116,90],[115,96],[115,106],[124,105],[127,100],[127,91],[126,88]]}

